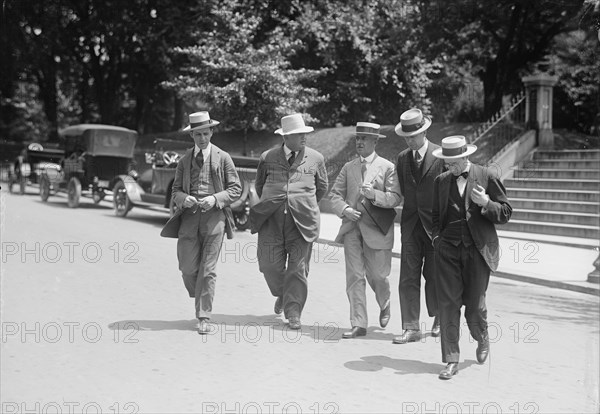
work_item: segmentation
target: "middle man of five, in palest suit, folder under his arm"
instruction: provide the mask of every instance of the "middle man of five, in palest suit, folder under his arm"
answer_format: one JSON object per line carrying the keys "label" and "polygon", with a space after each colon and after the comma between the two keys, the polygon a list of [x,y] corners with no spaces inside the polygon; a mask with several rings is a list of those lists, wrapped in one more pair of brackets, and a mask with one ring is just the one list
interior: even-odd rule
{"label": "middle man of five, in palest suit, folder under his arm", "polygon": [[379,324],[385,328],[390,319],[390,282],[394,247],[394,224],[383,233],[361,203],[362,197],[373,205],[392,209],[400,203],[400,187],[394,164],[375,152],[385,135],[370,122],[356,124],[356,152],[359,157],[347,162],[331,189],[331,207],[342,218],[336,242],[344,243],[346,293],[350,301],[352,329],[343,338],[367,334],[366,281],[379,304]]}

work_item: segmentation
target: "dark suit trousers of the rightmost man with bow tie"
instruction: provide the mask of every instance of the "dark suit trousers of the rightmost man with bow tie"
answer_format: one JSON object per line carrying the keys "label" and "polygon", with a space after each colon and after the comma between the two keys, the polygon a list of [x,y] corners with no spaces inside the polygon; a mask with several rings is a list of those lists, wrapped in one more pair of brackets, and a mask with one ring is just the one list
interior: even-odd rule
{"label": "dark suit trousers of the rightmost man with bow tie", "polygon": [[460,308],[476,341],[487,337],[485,292],[490,268],[475,245],[458,246],[441,238],[436,246],[437,296],[440,316],[442,361],[459,362]]}

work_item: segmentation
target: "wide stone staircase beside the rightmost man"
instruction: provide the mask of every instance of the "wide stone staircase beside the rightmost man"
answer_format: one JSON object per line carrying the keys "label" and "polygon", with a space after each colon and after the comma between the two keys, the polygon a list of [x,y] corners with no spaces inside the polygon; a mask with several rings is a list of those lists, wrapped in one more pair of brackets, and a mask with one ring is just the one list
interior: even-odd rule
{"label": "wide stone staircase beside the rightmost man", "polygon": [[536,150],[529,158],[504,180],[513,215],[498,229],[597,243],[600,150]]}

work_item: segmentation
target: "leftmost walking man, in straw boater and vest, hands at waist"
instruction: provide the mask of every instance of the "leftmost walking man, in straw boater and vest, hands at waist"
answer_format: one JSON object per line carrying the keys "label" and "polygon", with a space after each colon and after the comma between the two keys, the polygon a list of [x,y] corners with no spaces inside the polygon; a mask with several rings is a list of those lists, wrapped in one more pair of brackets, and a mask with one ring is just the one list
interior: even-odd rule
{"label": "leftmost walking man, in straw boater and vest, hands at waist", "polygon": [[173,200],[182,209],[177,258],[185,287],[195,298],[198,333],[207,334],[223,236],[233,237],[228,206],[239,198],[242,187],[229,154],[210,142],[219,122],[208,112],[190,114],[189,121],[185,130],[195,145],[179,160],[173,182]]}

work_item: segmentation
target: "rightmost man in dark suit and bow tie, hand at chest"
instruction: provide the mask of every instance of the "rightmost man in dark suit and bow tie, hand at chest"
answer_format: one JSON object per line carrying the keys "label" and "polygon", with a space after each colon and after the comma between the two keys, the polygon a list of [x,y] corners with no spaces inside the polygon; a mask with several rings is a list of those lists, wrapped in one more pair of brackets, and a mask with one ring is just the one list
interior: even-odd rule
{"label": "rightmost man in dark suit and bow tie, hand at chest", "polygon": [[465,306],[469,332],[482,364],[490,351],[485,293],[490,272],[498,267],[496,224],[508,222],[512,207],[504,186],[488,168],[471,164],[477,150],[463,136],[442,140],[433,155],[448,171],[439,175],[433,190],[433,245],[438,270],[437,295],[442,333],[440,379],[458,373],[460,309]]}

